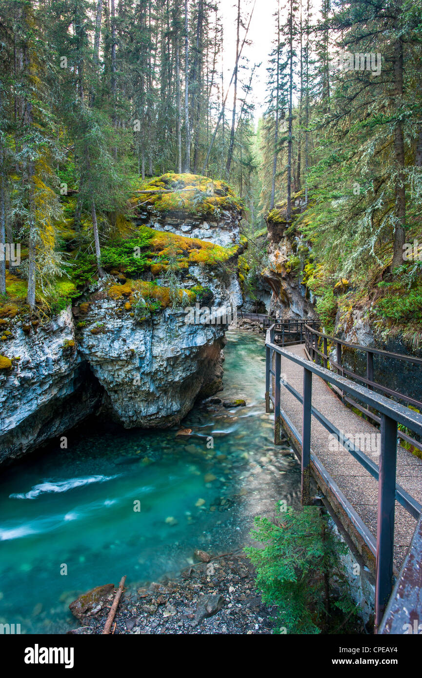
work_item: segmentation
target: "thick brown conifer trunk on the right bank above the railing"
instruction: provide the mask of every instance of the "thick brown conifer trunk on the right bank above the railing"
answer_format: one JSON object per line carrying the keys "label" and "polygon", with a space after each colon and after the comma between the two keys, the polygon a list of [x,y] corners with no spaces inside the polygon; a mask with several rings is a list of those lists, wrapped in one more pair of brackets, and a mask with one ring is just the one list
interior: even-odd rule
{"label": "thick brown conifer trunk on the right bank above the railing", "polygon": [[[397,3],[397,16],[400,16],[402,0]],[[398,28],[396,20],[396,30]],[[396,36],[394,44],[394,103],[401,106],[403,100],[403,39],[402,35]],[[396,121],[394,129],[394,155],[396,157],[396,226],[394,228],[393,259],[390,271],[403,263],[403,245],[406,241],[406,185],[404,176],[404,138],[403,126],[400,117]]]}

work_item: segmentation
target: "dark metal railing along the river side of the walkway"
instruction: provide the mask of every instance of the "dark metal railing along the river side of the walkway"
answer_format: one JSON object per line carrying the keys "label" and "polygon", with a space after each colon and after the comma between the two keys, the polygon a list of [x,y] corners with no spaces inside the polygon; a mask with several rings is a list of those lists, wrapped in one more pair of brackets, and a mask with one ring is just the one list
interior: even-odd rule
{"label": "dark metal railing along the river side of the walkway", "polygon": [[[309,328],[311,330],[311,328]],[[318,333],[319,334],[319,333]],[[375,629],[377,631],[385,607],[391,596],[394,584],[394,517],[395,502],[398,500],[404,509],[419,518],[422,506],[406,490],[396,483],[397,464],[397,431],[398,424],[402,424],[422,435],[422,415],[386,398],[384,395],[374,393],[366,386],[356,384],[351,380],[331,372],[326,367],[315,365],[293,353],[289,353],[274,342],[275,327],[272,325],[267,330],[266,336],[266,388],[265,403],[266,411],[270,411],[270,403],[274,408],[274,441],[280,444],[280,428],[282,419],[292,431],[293,436],[301,447],[301,497],[303,504],[311,502],[310,476],[311,465],[322,477],[324,483],[330,487],[349,521],[354,526],[360,537],[364,540],[369,551],[375,556]],[[281,379],[282,357],[303,367],[303,396],[295,391],[286,380]],[[273,369],[274,363],[274,369]],[[342,393],[358,399],[369,407],[379,412],[381,422],[381,451],[379,466],[374,464],[364,452],[359,450],[351,441],[344,439],[341,431],[330,422],[324,415],[312,405],[312,375],[315,374],[328,384],[337,386]],[[274,383],[273,383],[274,382]],[[280,393],[282,385],[288,388],[296,399],[303,405],[302,435],[290,422],[281,410]],[[355,458],[366,471],[378,481],[378,512],[377,512],[377,539],[372,535],[364,521],[351,506],[337,483],[332,479],[322,462],[311,453],[311,416],[314,416],[330,433],[337,436],[345,449]]]}

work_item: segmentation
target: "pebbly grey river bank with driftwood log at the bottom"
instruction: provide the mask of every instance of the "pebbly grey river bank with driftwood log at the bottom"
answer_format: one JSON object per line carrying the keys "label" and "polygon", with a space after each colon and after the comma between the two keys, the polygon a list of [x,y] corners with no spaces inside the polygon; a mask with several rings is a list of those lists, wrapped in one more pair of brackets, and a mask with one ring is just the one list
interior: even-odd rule
{"label": "pebbly grey river bank with driftwood log at the bottom", "polygon": [[[113,593],[104,597],[96,614],[85,616],[83,626],[68,633],[102,633]],[[250,561],[241,552],[230,553],[196,563],[174,580],[123,593],[112,633],[263,635],[273,629],[272,614],[275,610],[263,604],[255,589]]]}

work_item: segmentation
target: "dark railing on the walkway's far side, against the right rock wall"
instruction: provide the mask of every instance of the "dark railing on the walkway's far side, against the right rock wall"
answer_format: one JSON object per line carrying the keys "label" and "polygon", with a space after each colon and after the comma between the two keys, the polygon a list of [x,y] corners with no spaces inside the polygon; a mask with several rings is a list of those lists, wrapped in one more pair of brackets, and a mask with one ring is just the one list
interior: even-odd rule
{"label": "dark railing on the walkway's far side, against the right rock wall", "polygon": [[[330,358],[328,355],[328,344],[335,346],[335,360]],[[322,347],[322,351],[320,351],[319,346]],[[353,351],[362,351],[366,353],[366,377],[347,369],[347,367],[343,365],[343,347]],[[404,393],[399,393],[393,388],[388,388],[384,384],[380,384],[379,382],[375,381],[374,378],[374,355],[378,355],[383,359],[395,360],[399,362],[402,361],[422,367],[421,358],[414,357],[413,355],[404,355],[402,353],[390,353],[389,351],[382,351],[380,348],[372,348],[372,346],[351,344],[350,342],[337,339],[337,337],[332,337],[328,334],[318,332],[315,327],[311,326],[309,323],[305,325],[305,348],[309,358],[315,363],[321,364],[326,369],[329,363],[330,369],[334,369],[337,374],[341,374],[341,376],[346,376],[352,380],[358,381],[360,384],[364,384],[364,386],[370,388],[371,391],[377,391],[378,393],[387,395],[398,402],[405,403],[406,405],[412,405],[413,407],[416,407],[417,410],[422,412],[421,401],[405,395]],[[374,412],[370,412],[370,410],[368,410],[366,407],[362,407],[362,403],[347,397],[347,395],[344,395],[344,393],[339,395],[341,395],[343,401],[352,407],[356,407],[356,409],[364,414],[367,418],[372,419],[372,421],[377,422],[377,424],[381,424],[379,416],[377,416],[377,414]],[[400,429],[398,430],[398,437],[406,443],[410,443],[410,445],[417,447],[418,450],[422,450],[421,441],[407,435],[403,431],[400,431]]]}

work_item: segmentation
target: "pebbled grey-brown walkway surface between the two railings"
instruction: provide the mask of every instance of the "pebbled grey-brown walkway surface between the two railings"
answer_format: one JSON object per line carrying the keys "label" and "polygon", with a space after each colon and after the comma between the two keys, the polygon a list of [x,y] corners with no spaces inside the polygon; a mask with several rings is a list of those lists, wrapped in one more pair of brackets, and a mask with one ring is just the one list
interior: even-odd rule
{"label": "pebbled grey-brown walkway surface between the two railings", "polygon": [[[307,359],[303,344],[290,346],[286,348],[286,351]],[[302,395],[302,367],[282,357],[281,372],[286,382]],[[315,375],[312,383],[312,404],[340,431],[343,431],[345,437],[352,441],[355,437],[355,444],[378,464],[377,447],[374,443],[378,440],[379,429],[343,405],[326,382]],[[286,414],[293,426],[302,434],[303,407],[287,388],[282,388],[281,408],[282,416]],[[288,428],[285,428],[286,432],[290,433]],[[365,449],[362,443],[359,445],[356,440],[367,442],[371,440],[370,449],[368,447]],[[330,439],[326,428],[315,417],[312,417],[311,421],[311,452],[318,456],[370,532],[377,536],[378,482],[345,450],[343,445],[336,444],[336,441]],[[408,494],[422,503],[422,460],[400,446],[397,451],[397,482]],[[396,502],[394,565],[397,570],[400,570],[406,556],[415,526],[415,519]]]}

